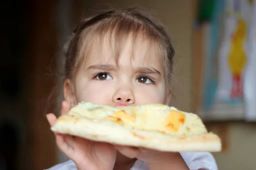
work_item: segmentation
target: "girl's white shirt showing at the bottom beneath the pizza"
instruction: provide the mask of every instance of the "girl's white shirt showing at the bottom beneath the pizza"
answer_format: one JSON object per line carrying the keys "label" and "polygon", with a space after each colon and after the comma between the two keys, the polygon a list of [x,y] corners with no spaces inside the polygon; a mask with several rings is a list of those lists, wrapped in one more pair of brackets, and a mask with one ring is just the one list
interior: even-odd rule
{"label": "girl's white shirt showing at the bottom beneath the pizza", "polygon": [[[215,159],[209,152],[180,152],[184,161],[190,170],[218,170]],[[170,160],[172,161],[172,160]],[[77,170],[76,164],[72,160],[57,164],[48,170]],[[148,170],[148,166],[144,161],[137,160],[130,170]]]}

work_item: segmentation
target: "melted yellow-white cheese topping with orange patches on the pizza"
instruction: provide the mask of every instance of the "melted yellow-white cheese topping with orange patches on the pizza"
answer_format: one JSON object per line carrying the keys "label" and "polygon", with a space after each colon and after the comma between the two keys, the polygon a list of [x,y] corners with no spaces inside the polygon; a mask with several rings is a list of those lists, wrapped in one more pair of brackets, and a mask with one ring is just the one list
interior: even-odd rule
{"label": "melted yellow-white cheese topping with orange patches on the pizza", "polygon": [[197,115],[161,104],[111,107],[81,102],[68,114],[79,119],[111,121],[132,129],[159,131],[172,135],[207,133]]}

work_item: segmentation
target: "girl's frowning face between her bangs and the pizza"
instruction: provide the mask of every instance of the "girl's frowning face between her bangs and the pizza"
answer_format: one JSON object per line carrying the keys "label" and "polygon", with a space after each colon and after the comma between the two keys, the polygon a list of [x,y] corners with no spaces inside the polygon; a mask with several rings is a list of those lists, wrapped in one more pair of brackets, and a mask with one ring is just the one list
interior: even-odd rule
{"label": "girl's frowning face between her bangs and the pizza", "polygon": [[125,44],[118,65],[107,42],[102,49],[94,48],[73,83],[74,104],[82,101],[110,106],[167,104],[163,59],[154,49],[148,49],[145,40],[137,43],[134,49],[131,40]]}

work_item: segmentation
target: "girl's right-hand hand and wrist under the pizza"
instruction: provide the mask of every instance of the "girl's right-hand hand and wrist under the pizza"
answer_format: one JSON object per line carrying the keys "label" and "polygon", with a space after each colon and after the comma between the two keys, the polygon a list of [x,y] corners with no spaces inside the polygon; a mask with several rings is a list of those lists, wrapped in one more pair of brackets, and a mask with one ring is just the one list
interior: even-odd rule
{"label": "girl's right-hand hand and wrist under the pizza", "polygon": [[160,152],[141,147],[115,145],[116,149],[129,158],[145,161],[150,170],[189,170],[180,153]]}

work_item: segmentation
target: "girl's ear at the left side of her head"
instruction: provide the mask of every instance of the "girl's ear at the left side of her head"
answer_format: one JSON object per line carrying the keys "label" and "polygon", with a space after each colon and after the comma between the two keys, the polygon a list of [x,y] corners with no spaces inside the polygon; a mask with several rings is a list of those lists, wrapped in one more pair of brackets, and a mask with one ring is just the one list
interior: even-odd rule
{"label": "girl's ear at the left side of her head", "polygon": [[70,79],[66,79],[64,82],[64,99],[70,103],[71,108],[76,105],[76,93],[74,85]]}

